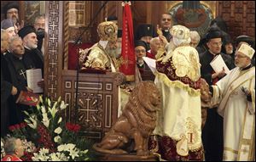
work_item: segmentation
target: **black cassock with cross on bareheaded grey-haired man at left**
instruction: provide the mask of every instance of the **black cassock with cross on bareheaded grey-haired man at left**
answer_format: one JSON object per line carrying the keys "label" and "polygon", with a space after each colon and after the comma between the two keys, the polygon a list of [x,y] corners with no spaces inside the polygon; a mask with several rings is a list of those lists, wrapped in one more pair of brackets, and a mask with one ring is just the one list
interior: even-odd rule
{"label": "black cassock with cross on bareheaded grey-haired man at left", "polygon": [[3,80],[8,81],[12,86],[15,86],[18,89],[15,96],[10,95],[9,98],[7,98],[9,106],[9,117],[7,118],[9,118],[9,125],[15,125],[23,122],[25,115],[22,111],[30,109],[29,106],[15,103],[15,101],[21,90],[26,91],[26,70],[35,68],[35,65],[33,64],[32,59],[28,57],[19,59],[14,54],[7,53],[4,56],[1,68],[3,68]]}

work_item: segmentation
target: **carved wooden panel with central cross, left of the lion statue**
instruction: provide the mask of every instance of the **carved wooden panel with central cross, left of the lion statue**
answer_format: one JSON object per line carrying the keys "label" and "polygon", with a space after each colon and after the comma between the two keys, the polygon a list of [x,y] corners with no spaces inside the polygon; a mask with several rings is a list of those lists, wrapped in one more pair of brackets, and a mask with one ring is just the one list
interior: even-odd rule
{"label": "carved wooden panel with central cross, left of the lion statue", "polygon": [[68,103],[65,119],[79,123],[84,137],[101,139],[118,115],[118,73],[79,74],[79,109],[75,119],[76,71],[62,72],[62,98]]}

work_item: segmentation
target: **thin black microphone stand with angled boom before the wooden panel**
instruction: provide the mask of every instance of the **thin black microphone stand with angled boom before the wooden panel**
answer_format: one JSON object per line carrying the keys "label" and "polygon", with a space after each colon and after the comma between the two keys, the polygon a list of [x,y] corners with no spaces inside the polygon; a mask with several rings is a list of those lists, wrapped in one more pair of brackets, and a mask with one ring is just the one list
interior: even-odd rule
{"label": "thin black microphone stand with angled boom before the wooden panel", "polygon": [[[105,1],[103,4],[102,4],[102,7],[99,8],[99,10],[96,12],[95,16],[93,17],[93,19],[90,21],[89,25],[87,25],[85,28],[84,28],[84,31],[80,34],[79,38],[74,42],[73,44],[73,47],[75,47],[77,44],[79,44],[79,42],[81,42],[81,38],[82,36],[84,35],[84,32],[87,31],[87,29],[90,27],[90,25],[96,20],[96,17],[98,14],[100,14],[100,12],[102,11],[102,8],[105,7],[105,5],[108,3],[108,1]],[[79,53],[79,49],[77,49],[77,53]],[[77,77],[76,77],[76,100],[75,100],[75,124],[77,123],[77,120],[78,120],[78,111],[79,111],[79,104],[78,104],[78,95],[79,95],[79,70],[80,70],[80,67],[79,67],[79,54],[78,54],[78,59],[77,59]]]}

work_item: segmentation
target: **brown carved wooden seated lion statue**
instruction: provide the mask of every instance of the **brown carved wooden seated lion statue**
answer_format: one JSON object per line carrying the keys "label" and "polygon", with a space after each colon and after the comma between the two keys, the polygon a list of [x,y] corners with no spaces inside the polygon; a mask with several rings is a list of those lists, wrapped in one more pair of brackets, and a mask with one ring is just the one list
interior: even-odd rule
{"label": "brown carved wooden seated lion statue", "polygon": [[154,83],[140,82],[131,92],[122,115],[93,148],[105,154],[128,154],[125,148],[131,148],[134,143],[131,150],[136,150],[139,156],[148,155],[148,137],[156,126],[160,102],[160,92]]}

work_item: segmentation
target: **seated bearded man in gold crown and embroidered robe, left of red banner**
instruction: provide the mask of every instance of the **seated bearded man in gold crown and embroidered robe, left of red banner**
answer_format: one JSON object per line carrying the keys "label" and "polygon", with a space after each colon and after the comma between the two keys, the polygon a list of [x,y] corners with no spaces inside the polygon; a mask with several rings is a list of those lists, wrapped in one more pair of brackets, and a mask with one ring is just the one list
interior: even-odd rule
{"label": "seated bearded man in gold crown and embroidered robe, left of red banner", "polygon": [[98,25],[100,41],[89,49],[80,50],[79,61],[83,69],[118,71],[114,55],[117,53],[118,26],[111,21]]}

